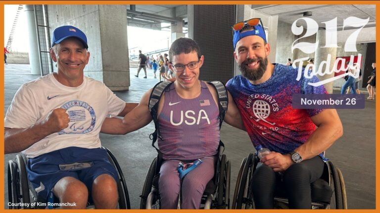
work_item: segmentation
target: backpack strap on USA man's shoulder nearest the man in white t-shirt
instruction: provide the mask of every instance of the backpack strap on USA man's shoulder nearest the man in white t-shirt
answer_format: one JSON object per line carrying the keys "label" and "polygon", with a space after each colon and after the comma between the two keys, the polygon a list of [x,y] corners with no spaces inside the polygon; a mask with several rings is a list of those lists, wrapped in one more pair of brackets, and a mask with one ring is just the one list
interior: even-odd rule
{"label": "backpack strap on USA man's shoulder nearest the man in white t-shirt", "polygon": [[[150,140],[152,140],[152,146],[157,150],[158,152],[158,158],[162,159],[162,153],[161,151],[154,145],[154,143],[157,141],[157,137],[160,137],[160,129],[158,124],[158,103],[160,102],[160,99],[162,97],[162,94],[164,93],[165,89],[169,87],[173,82],[171,81],[160,81],[156,85],[154,85],[152,92],[150,93],[149,97],[149,111],[150,115],[152,116],[153,122],[154,122],[154,132],[149,135]],[[158,159],[157,158],[157,159]]]}

